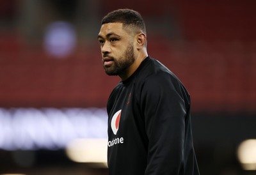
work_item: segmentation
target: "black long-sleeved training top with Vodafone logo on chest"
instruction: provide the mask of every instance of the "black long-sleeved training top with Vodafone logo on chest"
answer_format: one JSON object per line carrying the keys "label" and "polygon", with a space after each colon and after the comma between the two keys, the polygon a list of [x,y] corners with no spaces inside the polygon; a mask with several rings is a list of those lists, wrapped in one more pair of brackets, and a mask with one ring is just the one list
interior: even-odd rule
{"label": "black long-sleeved training top with Vodafone logo on chest", "polygon": [[147,57],[109,96],[110,175],[197,175],[190,97],[177,77]]}

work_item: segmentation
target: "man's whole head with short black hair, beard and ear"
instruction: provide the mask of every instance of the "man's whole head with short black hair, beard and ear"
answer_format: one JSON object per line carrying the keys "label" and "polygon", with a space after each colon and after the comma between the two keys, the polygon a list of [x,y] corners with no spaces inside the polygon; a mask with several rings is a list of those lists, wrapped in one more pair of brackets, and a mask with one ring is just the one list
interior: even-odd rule
{"label": "man's whole head with short black hair, beard and ear", "polygon": [[147,56],[145,23],[137,11],[115,10],[102,19],[98,40],[108,75],[127,79]]}

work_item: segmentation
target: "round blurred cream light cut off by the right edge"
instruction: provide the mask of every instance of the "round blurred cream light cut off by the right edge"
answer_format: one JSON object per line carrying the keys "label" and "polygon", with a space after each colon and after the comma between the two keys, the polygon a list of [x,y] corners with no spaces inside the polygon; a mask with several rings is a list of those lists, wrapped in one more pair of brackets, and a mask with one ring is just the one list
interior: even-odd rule
{"label": "round blurred cream light cut off by the right edge", "polygon": [[244,170],[256,170],[256,139],[241,142],[237,156]]}

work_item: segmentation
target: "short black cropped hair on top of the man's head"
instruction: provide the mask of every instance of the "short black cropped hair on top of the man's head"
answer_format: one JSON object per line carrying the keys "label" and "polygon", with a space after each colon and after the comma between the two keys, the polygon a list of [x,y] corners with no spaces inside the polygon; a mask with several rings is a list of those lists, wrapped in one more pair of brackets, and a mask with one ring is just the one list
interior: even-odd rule
{"label": "short black cropped hair on top of the man's head", "polygon": [[124,27],[132,27],[146,34],[145,22],[138,11],[127,8],[111,11],[102,19],[101,24],[112,22],[120,22]]}

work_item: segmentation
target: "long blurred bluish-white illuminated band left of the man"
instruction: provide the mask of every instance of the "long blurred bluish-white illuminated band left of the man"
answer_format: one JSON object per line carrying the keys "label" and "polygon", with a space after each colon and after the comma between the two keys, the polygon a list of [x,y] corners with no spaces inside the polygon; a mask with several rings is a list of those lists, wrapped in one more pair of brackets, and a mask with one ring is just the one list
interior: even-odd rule
{"label": "long blurred bluish-white illuminated band left of the man", "polygon": [[65,149],[77,138],[107,138],[106,109],[1,109],[0,149]]}

